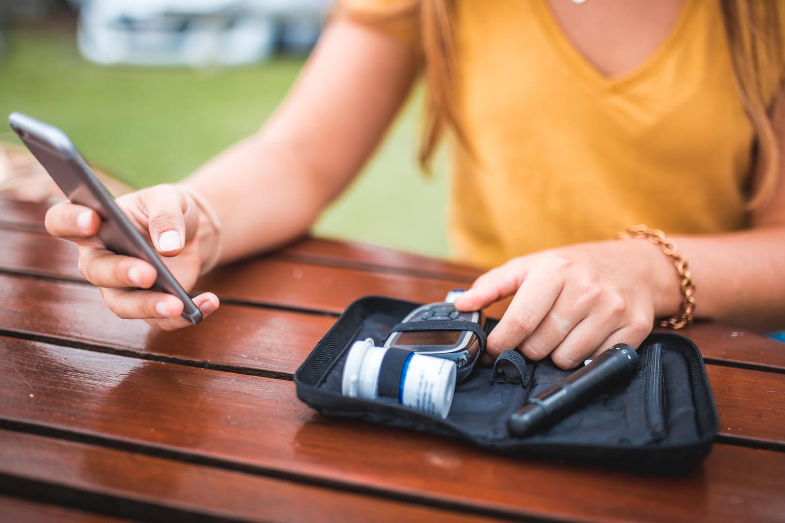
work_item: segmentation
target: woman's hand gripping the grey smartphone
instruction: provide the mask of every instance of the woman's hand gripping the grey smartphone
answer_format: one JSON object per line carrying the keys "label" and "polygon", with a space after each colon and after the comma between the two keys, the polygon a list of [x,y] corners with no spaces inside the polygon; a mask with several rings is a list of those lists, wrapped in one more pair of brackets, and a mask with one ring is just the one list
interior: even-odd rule
{"label": "woman's hand gripping the grey smartphone", "polygon": [[[210,231],[199,231],[195,202],[173,185],[142,189],[116,202],[155,251],[165,256],[166,267],[183,288],[192,289],[209,249],[217,247]],[[100,217],[81,205],[63,202],[46,212],[46,230],[79,245],[79,272],[100,288],[112,312],[120,318],[142,318],[164,330],[190,325],[180,318],[183,303],[177,297],[140,290],[155,283],[155,268],[144,260],[108,251],[96,236],[99,228]],[[211,292],[196,296],[194,303],[204,316],[219,305]]]}

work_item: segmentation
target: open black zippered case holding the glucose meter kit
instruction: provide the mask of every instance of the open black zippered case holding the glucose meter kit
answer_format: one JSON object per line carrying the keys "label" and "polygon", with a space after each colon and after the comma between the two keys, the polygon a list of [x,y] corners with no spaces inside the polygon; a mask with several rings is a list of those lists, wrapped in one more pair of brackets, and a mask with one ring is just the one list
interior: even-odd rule
{"label": "open black zippered case holding the glucose meter kit", "polygon": [[[346,308],[294,374],[297,394],[329,416],[367,419],[394,427],[462,438],[509,454],[555,457],[645,470],[681,470],[708,455],[719,429],[703,358],[692,341],[655,332],[638,348],[632,379],[594,398],[549,430],[510,436],[509,415],[570,371],[550,359],[491,368],[476,365],[455,389],[447,419],[407,409],[395,401],[341,394],[345,356],[356,340],[381,345],[393,325],[420,303],[366,296]],[[496,321],[488,320],[486,331]]]}

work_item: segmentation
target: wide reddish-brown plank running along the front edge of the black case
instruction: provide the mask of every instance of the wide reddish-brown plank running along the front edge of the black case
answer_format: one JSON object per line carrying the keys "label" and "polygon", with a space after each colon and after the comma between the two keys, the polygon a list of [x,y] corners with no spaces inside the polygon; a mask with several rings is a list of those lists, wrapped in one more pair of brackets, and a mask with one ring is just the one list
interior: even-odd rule
{"label": "wide reddish-brown plank running along the front edge of the black case", "polygon": [[[718,445],[691,474],[650,477],[513,459],[460,441],[328,419],[301,404],[294,383],[283,380],[26,340],[2,340],[0,361],[5,423],[144,445],[192,462],[236,463],[261,473],[528,517],[764,521],[785,512],[785,452]],[[736,380],[737,372],[752,372],[729,370],[739,383],[745,380]],[[780,395],[781,389],[782,383]],[[750,417],[761,412],[759,402],[747,409]],[[753,434],[754,427],[741,428],[750,437],[763,436]]]}

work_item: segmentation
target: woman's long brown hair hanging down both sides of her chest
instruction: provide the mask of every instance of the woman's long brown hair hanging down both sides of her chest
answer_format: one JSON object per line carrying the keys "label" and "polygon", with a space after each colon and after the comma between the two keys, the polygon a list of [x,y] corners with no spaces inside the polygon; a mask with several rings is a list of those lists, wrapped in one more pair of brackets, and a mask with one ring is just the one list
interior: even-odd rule
{"label": "woman's long brown hair hanging down both sides of her chest", "polygon": [[[783,73],[778,0],[719,2],[739,96],[758,139],[758,172],[747,202],[749,209],[757,209],[772,196],[780,169],[780,150],[771,119]],[[427,89],[418,159],[426,171],[445,130],[453,131],[462,147],[469,147],[455,108],[453,8],[454,0],[411,0],[389,13],[392,18],[407,16],[419,21]]]}

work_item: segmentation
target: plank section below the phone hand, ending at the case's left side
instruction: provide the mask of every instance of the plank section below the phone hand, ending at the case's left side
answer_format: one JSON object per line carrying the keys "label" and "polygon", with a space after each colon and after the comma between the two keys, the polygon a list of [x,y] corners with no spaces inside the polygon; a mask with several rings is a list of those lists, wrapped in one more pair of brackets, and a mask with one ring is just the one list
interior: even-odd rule
{"label": "plank section below the phone hand, ending at the case's left side", "polygon": [[91,285],[0,274],[0,331],[186,365],[291,376],[334,321],[224,303],[209,321],[162,332],[117,318]]}

